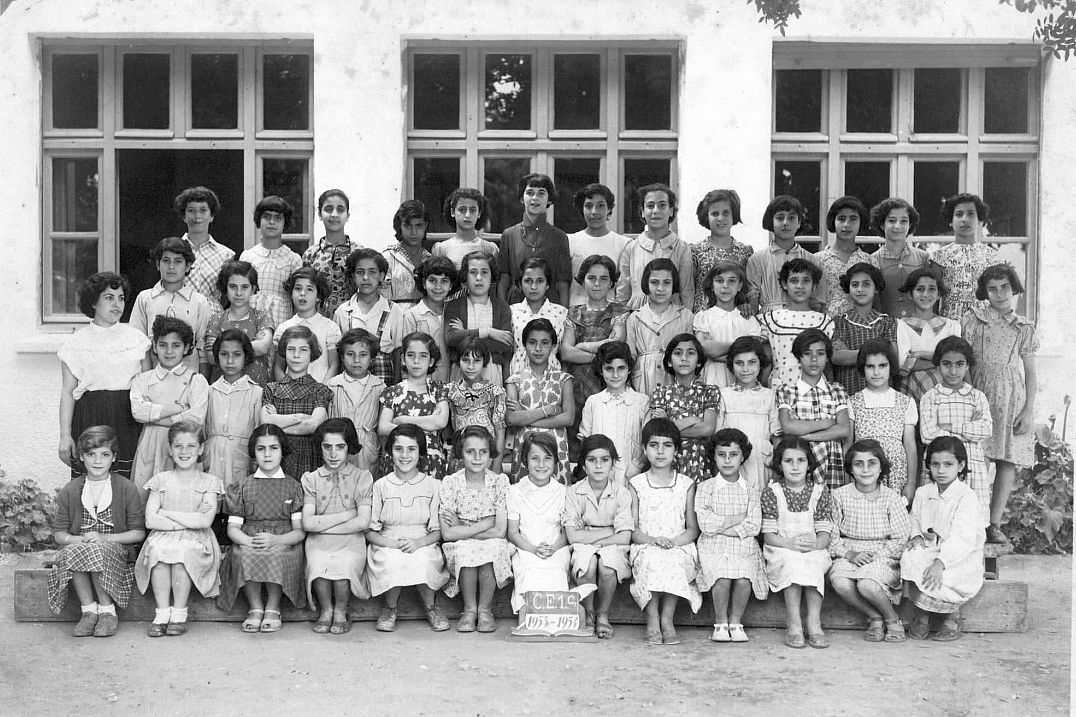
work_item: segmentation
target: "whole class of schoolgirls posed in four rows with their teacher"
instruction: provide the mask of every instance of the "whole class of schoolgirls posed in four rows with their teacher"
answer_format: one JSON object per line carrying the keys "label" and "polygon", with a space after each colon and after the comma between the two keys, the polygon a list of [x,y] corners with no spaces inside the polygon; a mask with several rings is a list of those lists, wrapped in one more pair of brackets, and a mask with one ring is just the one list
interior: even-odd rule
{"label": "whole class of schoolgirls posed in four rows with their teacher", "polygon": [[[75,634],[114,633],[114,604],[126,604],[137,578],[141,590],[154,587],[151,635],[185,632],[192,585],[226,608],[242,590],[249,632],[280,629],[282,595],[316,606],[313,629],[328,633],[350,630],[350,595],[383,595],[378,629],[391,631],[400,589],[415,586],[433,629],[449,627],[435,601],[443,589],[462,594],[458,630],[492,631],[494,589],[511,576],[516,609],[526,590],[565,589],[570,576],[597,587],[584,601],[587,625],[610,637],[615,586],[632,576],[648,643],[679,642],[677,601],[697,611],[700,589],[713,594],[712,638],[745,642],[750,593],[773,589],[785,598],[787,644],[825,647],[829,571],[869,617],[867,639],[904,638],[893,607],[902,576],[919,608],[908,634],[925,637],[929,613],[940,613],[948,618],[935,639],[959,637],[957,610],[981,585],[982,515],[1000,533],[1007,490],[999,497],[999,488],[1006,470],[1027,463],[1017,444],[1028,437],[1034,380],[1034,332],[1013,312],[1021,291],[1013,270],[989,264],[971,297],[957,294],[974,273],[968,257],[989,249],[978,243],[981,200],[946,203],[950,247],[976,251],[943,255],[946,247],[923,261],[906,243],[918,213],[900,199],[870,212],[886,240],[875,254],[855,248],[867,212],[845,197],[827,217],[835,243],[811,255],[795,242],[805,212],[792,197],[767,208],[774,242],[759,253],[731,236],[739,222],[733,191],[699,202],[711,234],[694,244],[669,229],[676,195],[667,186],[640,191],[647,227],[629,241],[606,225],[607,187],[577,194],[587,227],[569,238],[544,220],[554,197],[549,178],[523,178],[524,221],[497,247],[478,229],[485,198],[457,189],[445,202],[456,233],[429,255],[420,202],[400,207],[400,241],[382,254],[355,248],[343,234],[346,197],[325,193],[326,238],[280,282],[295,314],[275,324],[279,297],[258,291],[260,269],[226,262],[217,275],[224,311],[206,322],[220,329],[211,342],[184,320],[197,292],[179,300],[195,264],[186,237],[158,245],[161,282],[136,301],[160,309],[145,319],[152,341],[116,329],[126,326],[126,281],[91,277],[80,301],[93,335],[76,334],[60,352],[60,454],[85,476],[61,493],[54,609],[70,581],[83,606]],[[280,227],[264,253],[286,249],[289,214],[279,198],[259,203],[263,237]],[[622,247],[615,261],[613,245]],[[889,303],[891,282],[902,296]],[[845,304],[830,298],[834,283]],[[343,300],[337,289],[348,285],[354,294]],[[562,297],[580,287],[582,301],[565,309]],[[267,308],[254,308],[261,294]],[[959,323],[935,313],[939,298]],[[102,351],[110,341],[124,350]],[[198,347],[193,369],[185,362]],[[82,405],[94,402],[83,398],[101,403],[103,394],[108,404],[121,393],[98,390],[108,381],[94,359],[115,365],[121,356],[123,370],[148,369],[130,379],[130,416],[143,424],[133,484],[110,474],[126,426],[73,430],[75,419],[93,418],[94,406]],[[252,368],[267,356],[275,361],[263,372]],[[973,366],[995,400],[964,381]],[[212,385],[207,371],[220,376]],[[107,409],[101,423],[123,423]],[[495,464],[507,454],[506,424],[513,459]],[[569,428],[581,442],[569,445]],[[933,482],[916,491],[921,453],[920,482]],[[988,456],[997,463],[992,493]],[[374,482],[374,474],[384,477]],[[955,480],[968,474],[975,493]],[[232,542],[223,563],[210,529],[222,495]],[[123,547],[146,529],[133,571],[119,570]]]}

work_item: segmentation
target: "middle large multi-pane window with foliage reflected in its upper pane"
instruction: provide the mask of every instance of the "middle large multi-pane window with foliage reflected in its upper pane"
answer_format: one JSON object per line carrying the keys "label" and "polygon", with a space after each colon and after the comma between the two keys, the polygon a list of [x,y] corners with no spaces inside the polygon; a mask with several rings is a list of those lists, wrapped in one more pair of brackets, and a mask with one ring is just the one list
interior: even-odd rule
{"label": "middle large multi-pane window with foliage reflected in its upper pane", "polygon": [[600,181],[617,195],[611,226],[637,233],[635,189],[676,182],[676,45],[438,43],[405,61],[407,186],[437,216],[431,238],[451,230],[440,209],[457,186],[482,189],[499,234],[520,221],[520,177],[549,174],[550,220],[570,233],[585,226],[572,194]]}

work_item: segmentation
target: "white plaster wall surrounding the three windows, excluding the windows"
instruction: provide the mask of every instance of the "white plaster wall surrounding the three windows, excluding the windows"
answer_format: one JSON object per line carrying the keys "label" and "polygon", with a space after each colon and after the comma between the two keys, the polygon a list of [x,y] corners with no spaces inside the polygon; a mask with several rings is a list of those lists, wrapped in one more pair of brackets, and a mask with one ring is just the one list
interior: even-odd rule
{"label": "white plaster wall surrounding the three windows, excluding the windows", "polygon": [[[1033,24],[1009,6],[981,0],[805,0],[791,38],[1027,39]],[[835,22],[839,18],[839,22]],[[702,195],[732,186],[744,199],[737,237],[761,247],[769,198],[773,28],[742,0],[16,0],[0,16],[0,245],[10,248],[0,311],[0,466],[9,478],[58,486],[55,458],[58,338],[40,329],[40,97],[34,33],[52,37],[313,38],[315,191],[339,186],[352,197],[354,234],[387,243],[405,177],[401,51],[406,39],[678,39],[680,78],[678,189],[680,231],[706,231],[693,209]],[[1044,343],[1040,418],[1070,390],[1062,359],[1074,333],[1062,267],[1073,255],[1076,223],[1076,60],[1044,72],[1039,280]],[[364,228],[365,227],[365,228]],[[1070,352],[1071,353],[1071,352]],[[1062,377],[1060,380],[1058,377]]]}

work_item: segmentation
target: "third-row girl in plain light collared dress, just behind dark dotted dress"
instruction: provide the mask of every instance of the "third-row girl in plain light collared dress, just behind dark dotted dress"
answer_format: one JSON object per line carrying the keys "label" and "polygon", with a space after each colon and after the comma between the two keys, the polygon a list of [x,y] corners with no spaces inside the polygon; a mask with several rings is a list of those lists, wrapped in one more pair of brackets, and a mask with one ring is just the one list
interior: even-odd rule
{"label": "third-row girl in plain light collared dress, just behind dark dotted dress", "polygon": [[632,385],[647,396],[668,382],[662,364],[665,347],[677,334],[690,332],[694,320],[691,309],[672,304],[672,295],[680,292],[680,279],[671,259],[657,258],[647,264],[642,269],[646,301],[628,315],[625,325],[624,340],[635,359]]}

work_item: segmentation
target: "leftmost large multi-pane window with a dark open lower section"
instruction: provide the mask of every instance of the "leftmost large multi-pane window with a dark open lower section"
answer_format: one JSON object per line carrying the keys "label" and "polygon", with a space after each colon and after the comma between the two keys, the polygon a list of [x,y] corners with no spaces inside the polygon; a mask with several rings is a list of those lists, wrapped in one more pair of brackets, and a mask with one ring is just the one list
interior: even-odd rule
{"label": "leftmost large multi-pane window with a dark open lower section", "polygon": [[[213,237],[242,251],[263,196],[295,207],[285,240],[311,236],[312,62],[308,44],[48,44],[43,52],[43,297],[46,322],[85,321],[75,290],[121,271],[156,282],[148,256],[184,233],[183,188],[221,198]],[[128,297],[130,306],[133,297]]]}

